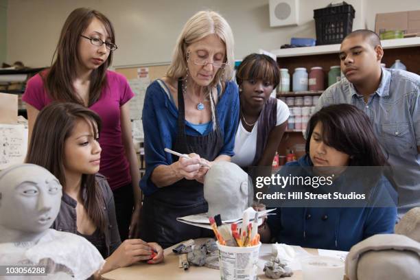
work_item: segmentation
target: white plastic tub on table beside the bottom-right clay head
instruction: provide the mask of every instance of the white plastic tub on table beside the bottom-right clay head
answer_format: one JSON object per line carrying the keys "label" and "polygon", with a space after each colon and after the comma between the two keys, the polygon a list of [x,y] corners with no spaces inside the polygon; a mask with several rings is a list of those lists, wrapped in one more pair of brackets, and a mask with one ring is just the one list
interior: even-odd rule
{"label": "white plastic tub on table beside the bottom-right clay head", "polygon": [[301,265],[303,280],[342,280],[345,274],[345,263],[337,257],[305,257]]}

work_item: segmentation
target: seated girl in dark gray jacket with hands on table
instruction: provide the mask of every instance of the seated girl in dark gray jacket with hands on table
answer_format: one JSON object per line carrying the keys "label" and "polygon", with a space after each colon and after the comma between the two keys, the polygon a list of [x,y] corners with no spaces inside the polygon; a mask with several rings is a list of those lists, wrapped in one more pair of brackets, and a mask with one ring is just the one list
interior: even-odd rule
{"label": "seated girl in dark gray jacket with hands on table", "polygon": [[106,258],[102,274],[148,260],[163,260],[159,244],[125,240],[118,233],[113,193],[106,178],[97,174],[101,147],[97,142],[101,119],[92,110],[73,103],[53,103],[36,119],[27,163],[49,170],[63,186],[60,213],[53,228],[82,235]]}

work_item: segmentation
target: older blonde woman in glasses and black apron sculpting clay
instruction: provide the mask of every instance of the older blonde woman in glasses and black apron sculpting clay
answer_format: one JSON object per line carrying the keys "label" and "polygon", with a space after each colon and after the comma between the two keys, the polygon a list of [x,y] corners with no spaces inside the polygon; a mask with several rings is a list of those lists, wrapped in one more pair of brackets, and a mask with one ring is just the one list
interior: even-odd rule
{"label": "older blonde woman in glasses and black apron sculpting clay", "polygon": [[209,166],[233,156],[239,99],[232,74],[231,27],[216,12],[198,12],[178,37],[165,77],[145,95],[144,240],[159,240],[165,248],[211,234],[176,218],[207,212],[202,183]]}

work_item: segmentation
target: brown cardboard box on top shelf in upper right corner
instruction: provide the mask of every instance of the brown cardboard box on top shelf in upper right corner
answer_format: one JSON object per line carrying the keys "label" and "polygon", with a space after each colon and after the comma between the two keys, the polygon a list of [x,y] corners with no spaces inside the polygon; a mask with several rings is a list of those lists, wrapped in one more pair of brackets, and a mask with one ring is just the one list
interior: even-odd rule
{"label": "brown cardboard box on top shelf in upper right corner", "polygon": [[420,10],[376,14],[375,32],[401,30],[404,34],[420,35]]}

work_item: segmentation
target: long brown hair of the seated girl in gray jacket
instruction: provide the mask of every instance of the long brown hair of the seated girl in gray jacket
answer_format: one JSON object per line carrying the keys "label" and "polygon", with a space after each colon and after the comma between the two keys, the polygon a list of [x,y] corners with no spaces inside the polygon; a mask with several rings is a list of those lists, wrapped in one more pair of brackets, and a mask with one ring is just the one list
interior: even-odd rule
{"label": "long brown hair of the seated girl in gray jacket", "polygon": [[[34,130],[27,150],[26,162],[49,170],[65,189],[65,141],[70,137],[77,121],[87,121],[95,138],[101,130],[100,117],[82,105],[64,102],[52,103],[36,117]],[[96,128],[96,129],[95,129]],[[100,231],[105,230],[104,195],[95,181],[95,174],[83,174],[81,194],[86,191],[84,208]],[[82,196],[83,197],[83,196]]]}

